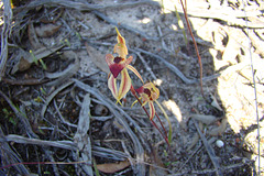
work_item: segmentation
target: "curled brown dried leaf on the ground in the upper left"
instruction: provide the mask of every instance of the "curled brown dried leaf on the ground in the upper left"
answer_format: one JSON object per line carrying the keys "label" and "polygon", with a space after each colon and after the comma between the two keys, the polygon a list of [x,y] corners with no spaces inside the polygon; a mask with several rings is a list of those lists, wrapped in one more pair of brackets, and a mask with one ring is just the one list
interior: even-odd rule
{"label": "curled brown dried leaf on the ground in the upper left", "polygon": [[52,36],[55,32],[59,30],[62,25],[58,24],[44,24],[35,28],[35,33],[41,37]]}

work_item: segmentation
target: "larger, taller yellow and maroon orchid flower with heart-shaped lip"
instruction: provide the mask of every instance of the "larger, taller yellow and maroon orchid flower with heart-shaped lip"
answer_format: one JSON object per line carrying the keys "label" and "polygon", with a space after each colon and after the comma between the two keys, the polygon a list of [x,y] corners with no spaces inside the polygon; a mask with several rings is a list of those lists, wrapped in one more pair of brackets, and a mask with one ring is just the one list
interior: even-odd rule
{"label": "larger, taller yellow and maroon orchid flower with heart-shaped lip", "polygon": [[[114,57],[111,54],[106,55],[106,62],[111,72],[108,78],[108,87],[111,90],[113,97],[117,99],[117,102],[122,105],[120,100],[128,94],[132,85],[128,69],[132,70],[141,79],[142,82],[144,81],[141,75],[139,74],[139,72],[133,66],[130,65],[131,62],[133,61],[133,57],[130,56],[129,58],[127,58],[128,48],[125,46],[125,40],[119,33],[117,28],[116,30],[118,33],[118,37],[117,37],[118,44],[114,45],[113,52],[118,53],[118,56]],[[121,81],[118,88],[117,77],[119,75],[121,75]]]}

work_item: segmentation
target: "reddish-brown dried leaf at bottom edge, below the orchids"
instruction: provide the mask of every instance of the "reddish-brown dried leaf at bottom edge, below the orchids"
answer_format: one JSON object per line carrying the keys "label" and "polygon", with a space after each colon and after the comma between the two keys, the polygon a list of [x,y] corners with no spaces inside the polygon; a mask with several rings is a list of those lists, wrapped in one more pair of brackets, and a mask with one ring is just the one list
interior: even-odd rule
{"label": "reddish-brown dried leaf at bottom edge, below the orchids", "polygon": [[124,169],[128,166],[130,166],[130,162],[123,161],[119,163],[98,164],[97,168],[102,173],[113,174],[116,172]]}

